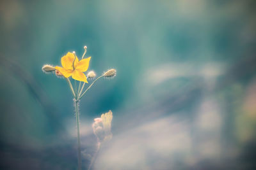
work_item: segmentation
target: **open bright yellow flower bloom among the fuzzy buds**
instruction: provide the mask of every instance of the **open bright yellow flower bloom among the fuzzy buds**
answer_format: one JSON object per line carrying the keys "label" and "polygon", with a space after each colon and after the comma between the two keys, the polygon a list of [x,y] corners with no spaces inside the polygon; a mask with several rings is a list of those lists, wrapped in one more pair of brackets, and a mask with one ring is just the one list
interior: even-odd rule
{"label": "open bright yellow flower bloom among the fuzzy buds", "polygon": [[62,67],[56,66],[55,68],[60,71],[65,78],[72,76],[74,80],[84,81],[88,83],[84,71],[87,71],[89,67],[91,57],[87,59],[78,60],[74,53],[68,52],[67,55],[61,58]]}

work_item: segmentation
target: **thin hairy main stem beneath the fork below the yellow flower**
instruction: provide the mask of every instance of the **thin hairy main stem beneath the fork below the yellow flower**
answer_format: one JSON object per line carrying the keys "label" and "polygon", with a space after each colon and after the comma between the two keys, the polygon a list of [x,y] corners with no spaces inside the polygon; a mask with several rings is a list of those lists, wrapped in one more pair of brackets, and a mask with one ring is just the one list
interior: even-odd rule
{"label": "thin hairy main stem beneath the fork below the yellow flower", "polygon": [[81,170],[81,143],[80,143],[80,131],[79,131],[79,101],[74,99],[74,104],[76,108],[76,125],[77,125],[77,165],[78,170]]}

